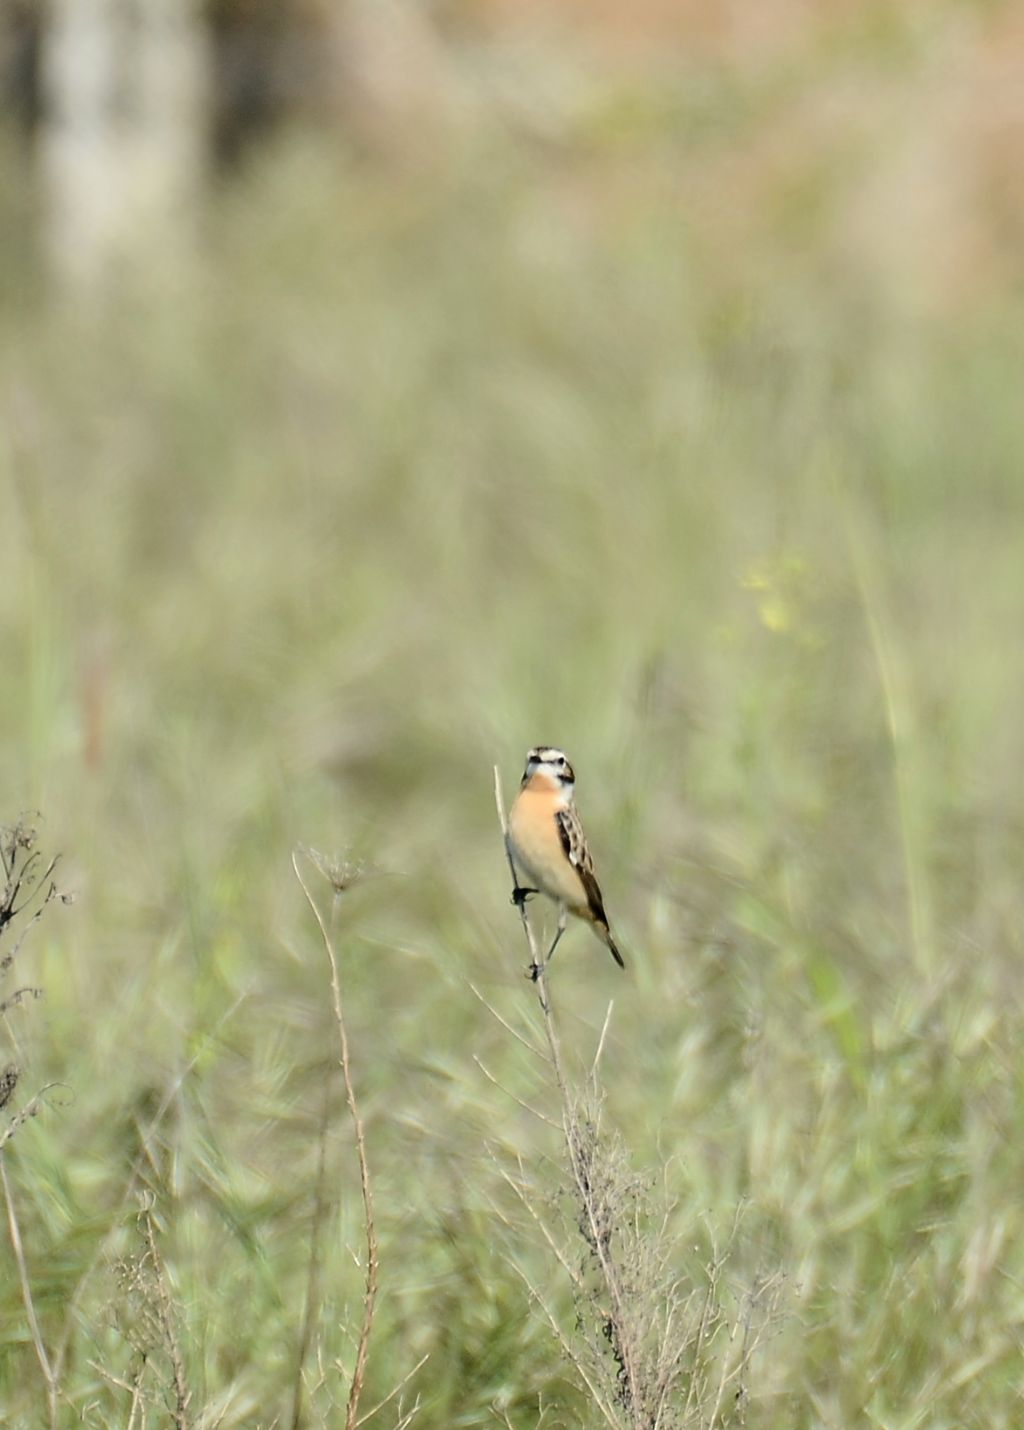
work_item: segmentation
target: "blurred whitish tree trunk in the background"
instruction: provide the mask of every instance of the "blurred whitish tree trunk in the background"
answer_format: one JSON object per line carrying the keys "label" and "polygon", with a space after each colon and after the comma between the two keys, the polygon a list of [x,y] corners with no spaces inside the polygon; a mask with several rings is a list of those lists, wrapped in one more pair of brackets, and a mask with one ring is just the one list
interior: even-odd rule
{"label": "blurred whitish tree trunk in the background", "polygon": [[40,156],[60,279],[160,272],[187,246],[207,50],[196,0],[50,0]]}

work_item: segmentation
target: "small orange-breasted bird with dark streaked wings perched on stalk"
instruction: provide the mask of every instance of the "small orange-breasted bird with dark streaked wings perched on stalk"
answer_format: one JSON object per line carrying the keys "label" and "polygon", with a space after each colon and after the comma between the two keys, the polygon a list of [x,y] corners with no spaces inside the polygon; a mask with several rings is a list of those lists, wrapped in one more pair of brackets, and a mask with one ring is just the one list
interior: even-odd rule
{"label": "small orange-breasted bird with dark streaked wings perched on stalk", "polygon": [[[546,894],[558,905],[558,931],[548,950],[548,961],[565,932],[566,915],[575,914],[608,945],[619,968],[625,968],[608,925],[594,859],[576,812],[575,784],[572,765],[558,746],[536,745],[526,755],[519,794],[508,817],[508,854],[516,884],[512,901],[522,907],[531,894]],[[519,885],[518,868],[533,881],[535,888]]]}

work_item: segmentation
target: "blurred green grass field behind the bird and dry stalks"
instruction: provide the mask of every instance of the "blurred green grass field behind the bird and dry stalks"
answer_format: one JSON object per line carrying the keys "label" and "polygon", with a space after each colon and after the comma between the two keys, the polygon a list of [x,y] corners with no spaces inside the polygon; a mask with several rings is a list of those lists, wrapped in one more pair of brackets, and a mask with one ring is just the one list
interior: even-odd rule
{"label": "blurred green grass field behind the bird and dry stalks", "polygon": [[[429,1354],[418,1424],[588,1423],[489,1151],[549,1188],[558,1144],[473,1061],[548,1095],[469,988],[529,1024],[491,766],[511,789],[545,739],[629,964],[562,945],[571,1055],[614,998],[608,1117],[668,1164],[681,1273],[742,1205],[729,1284],[785,1278],[747,1423],[1015,1424],[1020,305],[924,316],[771,255],[731,280],[669,184],[595,222],[513,147],[396,176],[296,140],[207,225],[106,309],[21,255],[1,315],[0,789],[77,892],[7,1015],[27,1083],[70,1093],[7,1160],[44,1338],[96,1258],[69,1423],[126,1414],[102,1371],[133,1364],[153,1121],[193,1416],[289,1413],[335,1048],[300,841],[379,871],[336,925],[368,1403]],[[362,1294],[340,1101],[330,1128],[325,1424]]]}

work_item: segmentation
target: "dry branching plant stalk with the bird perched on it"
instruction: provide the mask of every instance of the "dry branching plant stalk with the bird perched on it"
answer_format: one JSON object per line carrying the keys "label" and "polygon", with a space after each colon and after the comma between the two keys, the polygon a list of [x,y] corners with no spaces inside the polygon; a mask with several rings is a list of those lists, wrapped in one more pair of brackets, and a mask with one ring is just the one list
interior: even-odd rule
{"label": "dry branching plant stalk with the bird perched on it", "polygon": [[[496,766],[495,804],[512,882],[518,888]],[[538,1211],[522,1163],[518,1175],[503,1170],[502,1175],[569,1278],[576,1304],[575,1341],[563,1333],[538,1288],[523,1277],[531,1297],[543,1311],[606,1424],[616,1430],[722,1426],[729,1390],[734,1393],[731,1409],[738,1416],[737,1423],[742,1423],[744,1376],[759,1337],[759,1327],[754,1323],[755,1311],[764,1303],[771,1304],[777,1280],[758,1280],[745,1297],[741,1314],[731,1327],[727,1326],[721,1281],[737,1224],[724,1254],[719,1254],[712,1241],[712,1260],[705,1268],[707,1281],[702,1288],[676,1273],[674,1263],[678,1243],[669,1230],[672,1208],[668,1207],[661,1220],[652,1214],[648,1190],[632,1173],[622,1140],[602,1125],[604,1095],[598,1065],[608,1034],[611,1005],[589,1075],[581,1087],[573,1087],[562,1058],[548,968],[541,958],[526,904],[519,899],[516,902],[548,1044],[545,1061],[553,1068],[562,1105],[568,1191],[575,1231],[585,1248],[582,1260],[578,1253],[568,1250],[565,1240],[552,1231]],[[503,1022],[501,1018],[499,1021]],[[529,1042],[526,1045],[539,1052]],[[539,1113],[536,1115],[542,1117]]]}

